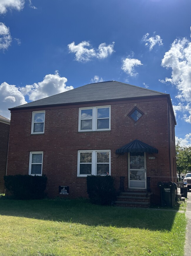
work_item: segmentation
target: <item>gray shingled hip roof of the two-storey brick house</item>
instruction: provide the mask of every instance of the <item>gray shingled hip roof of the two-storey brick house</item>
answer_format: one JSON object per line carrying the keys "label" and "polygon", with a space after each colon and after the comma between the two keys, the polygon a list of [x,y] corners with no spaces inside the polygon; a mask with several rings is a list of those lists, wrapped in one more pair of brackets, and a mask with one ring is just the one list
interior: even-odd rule
{"label": "gray shingled hip roof of the two-storey brick house", "polygon": [[[67,92],[62,92],[41,100],[29,102],[9,110],[31,107],[44,107],[50,105],[68,105],[75,103],[97,102],[103,100],[117,100],[125,98],[158,96],[165,93],[156,92],[146,88],[118,81],[105,81],[93,84],[86,84]],[[167,94],[166,94],[167,95]]]}

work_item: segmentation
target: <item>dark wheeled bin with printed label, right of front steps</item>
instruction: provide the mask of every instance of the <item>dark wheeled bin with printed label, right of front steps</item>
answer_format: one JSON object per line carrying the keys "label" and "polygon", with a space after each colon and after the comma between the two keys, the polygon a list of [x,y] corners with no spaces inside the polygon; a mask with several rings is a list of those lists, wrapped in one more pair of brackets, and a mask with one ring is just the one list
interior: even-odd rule
{"label": "dark wheeled bin with printed label, right of front steps", "polygon": [[160,188],[161,206],[173,207],[175,203],[176,183],[171,181],[163,183],[159,181],[157,186]]}

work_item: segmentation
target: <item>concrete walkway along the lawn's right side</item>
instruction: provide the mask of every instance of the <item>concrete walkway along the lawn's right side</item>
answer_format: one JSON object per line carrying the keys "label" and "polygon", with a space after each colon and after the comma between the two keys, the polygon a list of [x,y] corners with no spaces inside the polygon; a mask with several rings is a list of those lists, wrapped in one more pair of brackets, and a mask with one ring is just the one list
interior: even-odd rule
{"label": "concrete walkway along the lawn's right side", "polygon": [[191,255],[191,191],[188,191],[187,195],[187,208],[186,208],[186,217],[187,217],[187,227],[186,227],[186,242],[185,242],[185,249],[184,255],[190,256]]}

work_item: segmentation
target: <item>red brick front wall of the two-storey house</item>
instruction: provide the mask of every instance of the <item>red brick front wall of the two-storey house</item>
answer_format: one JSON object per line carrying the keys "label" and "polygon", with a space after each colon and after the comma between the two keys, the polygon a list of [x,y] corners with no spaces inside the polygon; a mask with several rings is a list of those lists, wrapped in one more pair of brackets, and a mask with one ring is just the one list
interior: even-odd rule
{"label": "red brick front wall of the two-storey house", "polygon": [[[144,113],[136,123],[127,115],[135,104]],[[78,132],[79,107],[102,105],[111,105],[111,131]],[[46,110],[44,134],[31,135],[34,110]],[[158,149],[158,154],[147,154],[147,176],[151,177],[153,199],[157,202],[158,181],[170,181],[167,97],[14,111],[11,113],[7,175],[28,174],[29,152],[43,151],[48,196],[58,196],[59,185],[70,187],[71,198],[87,196],[86,178],[77,177],[78,150],[110,149],[111,175],[115,177],[116,189],[120,186],[120,176],[125,176],[127,189],[127,153],[118,156],[115,150],[134,139]],[[155,159],[149,160],[148,156],[155,156]]]}

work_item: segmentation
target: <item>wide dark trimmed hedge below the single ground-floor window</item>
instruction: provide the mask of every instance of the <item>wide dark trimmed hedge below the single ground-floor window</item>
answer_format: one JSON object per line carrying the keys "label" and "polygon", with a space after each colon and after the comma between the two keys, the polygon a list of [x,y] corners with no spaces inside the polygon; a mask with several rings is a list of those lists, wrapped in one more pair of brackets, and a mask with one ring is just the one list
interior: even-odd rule
{"label": "wide dark trimmed hedge below the single ground-floor window", "polygon": [[15,199],[42,199],[45,197],[46,175],[8,175],[4,176],[5,188]]}

